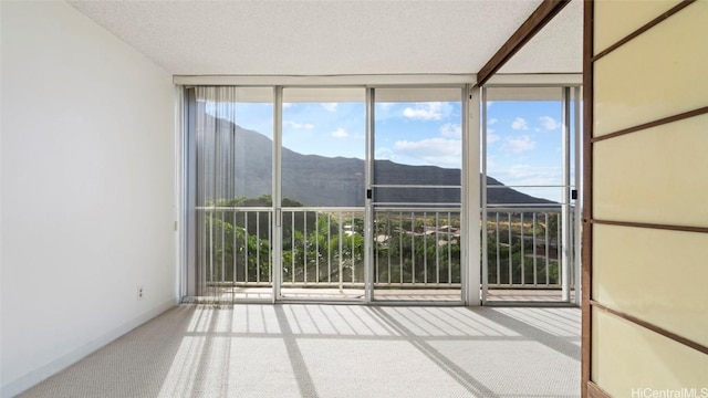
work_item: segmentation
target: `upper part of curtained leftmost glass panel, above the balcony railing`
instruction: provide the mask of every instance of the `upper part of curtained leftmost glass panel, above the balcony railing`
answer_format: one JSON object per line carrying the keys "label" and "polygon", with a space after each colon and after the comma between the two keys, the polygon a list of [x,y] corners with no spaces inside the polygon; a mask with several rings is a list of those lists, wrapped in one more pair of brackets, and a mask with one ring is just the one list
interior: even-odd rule
{"label": "upper part of curtained leftmost glass panel, above the balcony railing", "polygon": [[270,87],[197,88],[198,206],[271,205],[272,100]]}

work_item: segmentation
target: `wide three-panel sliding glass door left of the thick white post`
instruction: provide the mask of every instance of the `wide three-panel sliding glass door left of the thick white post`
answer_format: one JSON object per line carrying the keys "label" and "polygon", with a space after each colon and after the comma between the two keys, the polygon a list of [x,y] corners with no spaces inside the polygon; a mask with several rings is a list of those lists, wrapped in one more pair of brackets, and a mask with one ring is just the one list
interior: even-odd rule
{"label": "wide three-panel sliding glass door left of the thick white post", "polygon": [[186,93],[189,296],[461,302],[462,86]]}

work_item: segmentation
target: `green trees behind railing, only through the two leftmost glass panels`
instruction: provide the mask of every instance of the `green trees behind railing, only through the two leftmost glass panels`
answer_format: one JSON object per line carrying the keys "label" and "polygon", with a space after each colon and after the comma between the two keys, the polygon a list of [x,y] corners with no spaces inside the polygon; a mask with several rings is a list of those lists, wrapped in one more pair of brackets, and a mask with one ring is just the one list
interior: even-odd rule
{"label": "green trees behind railing, only through the two leftmost glass panels", "polygon": [[[216,208],[272,207],[270,196],[233,198]],[[303,207],[284,198],[283,207]],[[211,282],[271,280],[270,211],[209,210],[205,214],[200,251]],[[283,211],[283,282],[322,283],[364,281],[364,220],[361,214],[323,211]],[[342,239],[340,239],[342,237]],[[340,264],[341,263],[341,264]],[[341,265],[341,266],[340,266]]]}

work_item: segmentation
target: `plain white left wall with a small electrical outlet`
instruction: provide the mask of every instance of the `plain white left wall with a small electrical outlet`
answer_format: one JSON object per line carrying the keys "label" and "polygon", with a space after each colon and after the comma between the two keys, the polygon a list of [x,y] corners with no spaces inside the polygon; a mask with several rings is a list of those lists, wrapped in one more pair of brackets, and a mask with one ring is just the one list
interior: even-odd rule
{"label": "plain white left wall with a small electrical outlet", "polygon": [[178,294],[171,76],[64,2],[0,7],[4,397]]}

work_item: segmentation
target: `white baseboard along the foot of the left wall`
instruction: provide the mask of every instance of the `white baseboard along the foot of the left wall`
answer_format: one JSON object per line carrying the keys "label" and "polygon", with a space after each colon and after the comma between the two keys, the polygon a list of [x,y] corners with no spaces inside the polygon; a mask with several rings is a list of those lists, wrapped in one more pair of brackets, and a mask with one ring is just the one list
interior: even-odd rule
{"label": "white baseboard along the foot of the left wall", "polygon": [[156,308],[148,311],[147,313],[126,322],[119,327],[104,334],[103,336],[90,342],[88,344],[81,346],[73,352],[35,369],[30,371],[29,374],[8,383],[4,386],[0,387],[0,397],[1,398],[11,398],[20,392],[40,384],[44,379],[62,371],[63,369],[70,367],[71,365],[77,363],[79,360],[85,358],[95,350],[106,346],[108,343],[115,341],[116,338],[123,336],[124,334],[133,331],[134,328],[140,326],[147,321],[156,317],[157,315],[164,313],[165,311],[174,307],[179,303],[178,298],[168,300],[167,302],[158,305]]}

